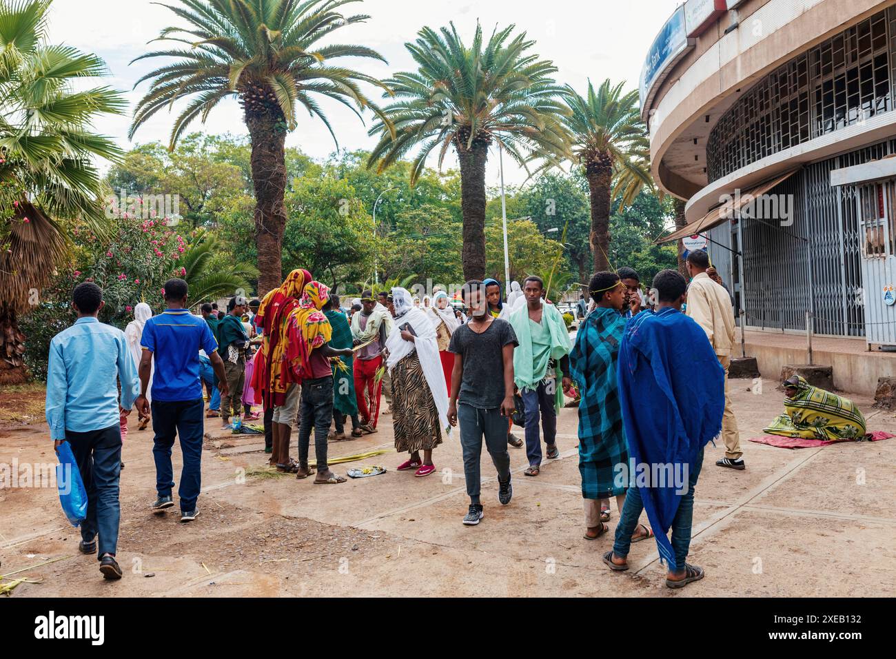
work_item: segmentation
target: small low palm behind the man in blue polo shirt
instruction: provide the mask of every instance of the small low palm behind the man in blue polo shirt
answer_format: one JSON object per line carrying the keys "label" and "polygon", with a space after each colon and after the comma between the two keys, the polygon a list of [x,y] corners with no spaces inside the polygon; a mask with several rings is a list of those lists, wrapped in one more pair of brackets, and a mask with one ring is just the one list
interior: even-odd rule
{"label": "small low palm behind the man in blue polo shirt", "polygon": [[[212,270],[211,259],[223,251],[224,246],[217,238],[200,230],[178,259],[178,264],[186,271],[184,280],[194,301],[218,299],[236,295],[239,290],[249,290],[248,280],[258,276],[254,265],[239,261],[228,261],[223,267]],[[246,295],[245,292],[241,294]]]}

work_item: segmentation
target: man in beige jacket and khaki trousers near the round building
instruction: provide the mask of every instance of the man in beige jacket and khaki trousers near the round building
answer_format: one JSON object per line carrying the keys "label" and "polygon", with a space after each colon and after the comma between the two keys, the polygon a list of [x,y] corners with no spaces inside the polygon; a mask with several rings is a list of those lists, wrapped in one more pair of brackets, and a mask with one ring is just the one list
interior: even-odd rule
{"label": "man in beige jacket and khaki trousers near the round building", "polygon": [[731,346],[735,342],[734,309],[728,291],[713,282],[706,273],[710,267],[710,257],[702,250],[687,255],[687,272],[692,279],[687,289],[686,314],[703,328],[712,344],[712,349],[725,369],[725,414],[722,417],[722,441],[725,442],[725,457],[716,461],[719,467],[745,469],[744,455],[740,450],[740,433],[737,418],[731,410],[728,395],[728,365],[731,361]]}

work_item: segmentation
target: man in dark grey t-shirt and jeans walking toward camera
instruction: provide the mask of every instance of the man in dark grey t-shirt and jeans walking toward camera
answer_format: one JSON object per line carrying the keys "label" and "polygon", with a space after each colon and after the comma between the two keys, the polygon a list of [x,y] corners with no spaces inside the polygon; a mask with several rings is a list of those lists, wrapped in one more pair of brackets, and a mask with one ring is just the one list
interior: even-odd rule
{"label": "man in dark grey t-shirt and jeans walking toward camera", "polygon": [[513,414],[513,348],[518,343],[510,323],[487,313],[482,282],[465,283],[461,295],[471,315],[469,323],[454,330],[448,346],[454,353],[448,421],[461,425],[463,473],[470,495],[463,523],[477,525],[483,517],[479,502],[483,436],[498,473],[498,501],[506,506],[513,497],[507,418]]}

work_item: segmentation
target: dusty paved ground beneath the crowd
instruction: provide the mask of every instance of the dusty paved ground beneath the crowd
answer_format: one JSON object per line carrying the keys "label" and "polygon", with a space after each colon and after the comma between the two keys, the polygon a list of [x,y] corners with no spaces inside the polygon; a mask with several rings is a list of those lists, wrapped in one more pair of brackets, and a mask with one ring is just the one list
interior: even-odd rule
{"label": "dusty paved ground beneath the crowd", "polygon": [[[524,449],[510,449],[514,491],[507,507],[497,502],[495,470],[483,452],[486,516],[478,526],[461,525],[468,499],[457,438],[435,451],[437,473],[414,478],[395,471],[405,457],[392,448],[388,416],[374,435],[329,448],[331,458],[388,449],[334,467],[345,473],[382,464],[387,473],[330,486],[259,475],[267,463],[263,436],[233,436],[206,420],[201,515],[190,524],[179,523],[177,507],[151,514],[152,433],[132,429],[118,542],[125,578],[103,581],[96,558],[78,553],[80,535],[65,520],[55,483],[0,490],[0,574],[29,568],[8,578],[40,581],[19,585],[13,597],[891,594],[896,438],[796,450],[749,442],[781,411],[783,397],[771,380],[763,381],[762,394],[750,384],[732,381],[747,468],[716,467],[724,447],[707,447],[689,558],[706,578],[682,591],[663,585],[653,542],[633,545],[632,569],[614,573],[600,562],[612,533],[582,538],[574,409],[559,420],[561,458],[544,464],[537,478],[522,476]],[[896,432],[892,412],[854,400],[869,429]],[[176,448],[176,474],[179,459]],[[56,462],[46,424],[0,421],[0,464],[13,460]],[[611,528],[617,519],[614,504]],[[32,568],[50,559],[59,560]]]}

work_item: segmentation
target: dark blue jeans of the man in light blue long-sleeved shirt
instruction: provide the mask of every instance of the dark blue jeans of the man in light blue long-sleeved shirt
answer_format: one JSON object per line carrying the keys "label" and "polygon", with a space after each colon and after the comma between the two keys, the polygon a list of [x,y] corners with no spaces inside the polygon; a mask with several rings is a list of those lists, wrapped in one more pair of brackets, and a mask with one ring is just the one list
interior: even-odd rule
{"label": "dark blue jeans of the man in light blue long-sleeved shirt", "polygon": [[65,430],[78,472],[87,490],[87,518],[81,523],[81,539],[93,542],[99,535],[99,553],[115,556],[118,545],[118,477],[121,473],[121,429],[114,426],[87,432]]}

